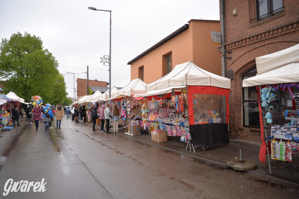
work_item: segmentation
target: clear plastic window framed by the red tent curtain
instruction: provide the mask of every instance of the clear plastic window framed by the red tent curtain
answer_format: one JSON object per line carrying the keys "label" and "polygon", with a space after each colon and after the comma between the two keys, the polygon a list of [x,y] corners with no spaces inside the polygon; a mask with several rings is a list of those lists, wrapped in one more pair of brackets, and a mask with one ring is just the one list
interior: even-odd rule
{"label": "clear plastic window framed by the red tent curtain", "polygon": [[226,96],[193,94],[194,124],[226,123]]}

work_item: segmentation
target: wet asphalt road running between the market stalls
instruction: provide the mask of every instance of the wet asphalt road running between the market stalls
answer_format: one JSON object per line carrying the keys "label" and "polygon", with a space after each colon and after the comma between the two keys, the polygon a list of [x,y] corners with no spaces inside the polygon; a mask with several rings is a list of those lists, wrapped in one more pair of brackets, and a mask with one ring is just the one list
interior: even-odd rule
{"label": "wet asphalt road running between the market stalls", "polygon": [[[23,121],[0,132],[0,198],[298,198],[298,190],[246,172],[107,134],[63,118],[61,129],[35,131]],[[54,124],[54,125],[53,125]],[[26,128],[27,126],[27,128]],[[52,121],[56,127],[56,121]],[[8,147],[8,148],[7,148]],[[5,157],[6,156],[6,157]],[[45,192],[4,184],[42,181]],[[270,182],[269,182],[270,181]]]}

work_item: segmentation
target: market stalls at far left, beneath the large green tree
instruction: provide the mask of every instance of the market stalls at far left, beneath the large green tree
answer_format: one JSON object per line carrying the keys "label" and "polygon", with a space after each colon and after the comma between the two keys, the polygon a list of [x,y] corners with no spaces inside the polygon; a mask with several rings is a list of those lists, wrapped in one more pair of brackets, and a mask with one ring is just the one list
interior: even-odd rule
{"label": "market stalls at far left, beneath the large green tree", "polygon": [[28,105],[29,103],[25,102],[23,98],[20,98],[16,93],[10,91],[9,93],[0,94],[0,127],[5,127],[11,123],[11,110],[13,105],[17,105],[18,109],[22,113],[22,105]]}

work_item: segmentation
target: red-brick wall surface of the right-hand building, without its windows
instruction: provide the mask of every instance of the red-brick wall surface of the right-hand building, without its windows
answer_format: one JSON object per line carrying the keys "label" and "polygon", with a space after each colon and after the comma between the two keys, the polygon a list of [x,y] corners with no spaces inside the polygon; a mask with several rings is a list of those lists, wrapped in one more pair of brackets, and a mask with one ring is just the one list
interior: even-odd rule
{"label": "red-brick wall surface of the right-hand building, without its windows", "polygon": [[[220,16],[221,16],[221,0]],[[226,71],[234,71],[231,81],[230,137],[260,142],[260,129],[242,124],[242,74],[255,65],[255,58],[299,43],[299,1],[283,0],[283,12],[257,21],[254,0],[225,2]],[[233,16],[237,8],[238,15]],[[221,24],[220,17],[220,24]],[[221,27],[220,27],[221,28]],[[221,46],[217,49],[222,52]],[[222,66],[222,63],[221,63]],[[221,68],[222,70],[222,68]]]}

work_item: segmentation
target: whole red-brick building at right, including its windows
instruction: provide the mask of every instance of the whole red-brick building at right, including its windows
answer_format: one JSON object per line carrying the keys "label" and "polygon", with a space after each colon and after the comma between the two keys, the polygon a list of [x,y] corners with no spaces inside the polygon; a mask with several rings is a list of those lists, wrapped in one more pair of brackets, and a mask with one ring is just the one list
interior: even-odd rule
{"label": "whole red-brick building at right, including its windows", "polygon": [[[226,74],[234,74],[231,81],[230,137],[258,142],[260,127],[256,88],[242,88],[242,79],[256,74],[256,57],[299,43],[299,1],[223,1],[224,45],[225,56],[228,57],[225,58],[225,71]],[[219,2],[221,16],[221,0]],[[220,24],[221,20],[220,17]],[[221,46],[217,50],[222,53]]]}

